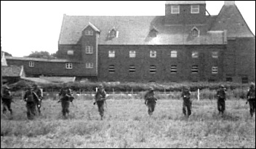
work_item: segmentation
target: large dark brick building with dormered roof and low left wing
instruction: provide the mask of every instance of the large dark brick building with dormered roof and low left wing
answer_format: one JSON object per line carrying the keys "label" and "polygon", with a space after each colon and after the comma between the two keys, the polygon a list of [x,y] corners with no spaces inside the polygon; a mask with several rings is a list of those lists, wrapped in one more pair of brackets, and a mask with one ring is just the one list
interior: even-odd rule
{"label": "large dark brick building with dormered roof and low left wing", "polygon": [[99,81],[255,81],[255,35],[235,1],[207,15],[206,1],[166,1],[164,16],[64,14],[58,59],[7,57],[34,77]]}

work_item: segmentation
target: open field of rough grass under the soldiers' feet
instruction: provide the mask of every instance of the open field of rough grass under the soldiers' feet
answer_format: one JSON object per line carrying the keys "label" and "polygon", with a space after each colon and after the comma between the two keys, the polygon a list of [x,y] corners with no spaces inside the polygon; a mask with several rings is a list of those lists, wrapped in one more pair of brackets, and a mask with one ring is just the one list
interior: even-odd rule
{"label": "open field of rough grass under the soldiers' feet", "polygon": [[74,101],[63,119],[60,103],[43,101],[42,115],[28,121],[16,101],[13,116],[1,112],[1,148],[255,148],[245,101],[227,101],[224,118],[216,101],[193,101],[186,119],[178,100],[159,100],[151,117],[143,100],[109,100],[103,121],[92,103]]}

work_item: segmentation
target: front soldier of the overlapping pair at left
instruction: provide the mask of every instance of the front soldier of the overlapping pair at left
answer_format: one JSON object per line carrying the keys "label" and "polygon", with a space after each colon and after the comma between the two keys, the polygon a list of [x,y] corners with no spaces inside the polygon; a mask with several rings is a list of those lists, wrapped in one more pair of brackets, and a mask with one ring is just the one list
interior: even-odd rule
{"label": "front soldier of the overlapping pair at left", "polygon": [[36,116],[36,103],[39,101],[39,97],[32,91],[32,88],[28,88],[25,92],[24,98],[27,108],[28,119],[33,119]]}

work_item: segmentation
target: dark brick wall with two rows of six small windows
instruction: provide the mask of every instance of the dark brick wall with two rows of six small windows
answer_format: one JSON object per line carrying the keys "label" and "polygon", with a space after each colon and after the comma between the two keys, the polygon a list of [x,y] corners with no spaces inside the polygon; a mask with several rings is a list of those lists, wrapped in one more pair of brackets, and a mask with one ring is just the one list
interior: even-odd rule
{"label": "dark brick wall with two rows of six small windows", "polygon": [[[223,50],[225,46],[99,46],[99,80],[104,81],[205,81],[223,80]],[[116,51],[115,58],[108,58],[108,51]],[[171,58],[171,51],[177,51],[177,58]],[[136,51],[136,58],[129,58],[129,51]],[[150,58],[150,51],[156,51],[156,58]],[[199,58],[192,59],[192,51],[199,51]],[[212,51],[219,52],[219,58],[212,58]],[[109,73],[110,65],[115,73]],[[136,67],[129,73],[129,66]],[[150,73],[151,65],[156,74]],[[171,74],[171,66],[177,65],[177,74]],[[192,65],[199,66],[199,73],[192,74]],[[218,74],[212,74],[212,67],[218,67]]]}

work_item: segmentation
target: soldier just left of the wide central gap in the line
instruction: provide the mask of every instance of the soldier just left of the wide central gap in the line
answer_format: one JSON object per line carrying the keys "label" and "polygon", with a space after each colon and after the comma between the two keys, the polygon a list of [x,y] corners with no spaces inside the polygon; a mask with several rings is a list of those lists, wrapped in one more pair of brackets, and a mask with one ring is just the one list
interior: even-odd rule
{"label": "soldier just left of the wide central gap in the line", "polygon": [[104,116],[104,103],[106,103],[106,98],[105,98],[105,90],[103,85],[99,85],[99,90],[97,90],[97,93],[95,95],[95,103],[97,103],[98,111],[100,112],[100,119],[103,120]]}

